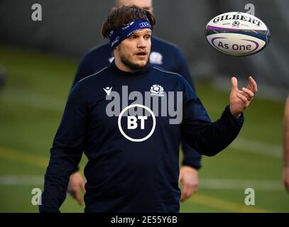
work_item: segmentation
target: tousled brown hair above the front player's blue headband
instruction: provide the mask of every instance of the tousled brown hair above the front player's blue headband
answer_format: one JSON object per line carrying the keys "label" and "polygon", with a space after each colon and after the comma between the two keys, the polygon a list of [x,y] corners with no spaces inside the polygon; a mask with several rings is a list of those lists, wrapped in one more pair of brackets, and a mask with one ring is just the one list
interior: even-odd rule
{"label": "tousled brown hair above the front player's blue headband", "polygon": [[102,36],[109,38],[110,31],[114,31],[136,19],[148,20],[151,23],[151,29],[156,25],[156,18],[152,13],[138,6],[121,6],[109,13],[107,19],[102,24]]}

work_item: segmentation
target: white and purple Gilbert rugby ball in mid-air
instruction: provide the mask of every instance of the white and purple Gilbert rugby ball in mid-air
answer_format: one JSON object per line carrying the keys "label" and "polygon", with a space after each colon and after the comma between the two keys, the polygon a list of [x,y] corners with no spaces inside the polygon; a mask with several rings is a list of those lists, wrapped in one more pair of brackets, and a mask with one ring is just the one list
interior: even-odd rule
{"label": "white and purple Gilbert rugby ball in mid-air", "polygon": [[212,18],[205,36],[213,48],[232,56],[253,55],[265,48],[271,38],[263,21],[249,13],[228,12]]}

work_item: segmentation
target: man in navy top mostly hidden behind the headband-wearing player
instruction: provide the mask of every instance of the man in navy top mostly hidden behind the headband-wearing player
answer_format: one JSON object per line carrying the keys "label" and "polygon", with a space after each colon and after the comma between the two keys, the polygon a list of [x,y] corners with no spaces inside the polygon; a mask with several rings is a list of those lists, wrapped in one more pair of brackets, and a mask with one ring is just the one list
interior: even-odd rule
{"label": "man in navy top mostly hidden behind the headband-wearing player", "polygon": [[[116,9],[122,5],[136,5],[153,13],[152,0],[116,0],[113,9]],[[194,89],[189,67],[187,66],[185,57],[182,55],[180,49],[177,46],[166,42],[165,40],[156,38],[154,35],[151,38],[151,43],[151,64],[157,65],[171,72],[177,72],[185,77],[187,82]],[[114,60],[114,57],[111,52],[111,48],[109,47],[109,43],[99,45],[96,48],[89,50],[82,58],[72,87],[78,81],[80,81],[80,79],[94,74],[103,67],[109,65],[112,60]],[[197,191],[199,184],[197,171],[200,170],[202,156],[196,150],[190,148],[190,146],[183,140],[181,145],[184,156],[182,160],[182,167],[180,168],[180,182],[182,183],[182,194],[180,196],[180,201],[184,201]],[[73,198],[77,199],[79,204],[82,204],[80,190],[85,192],[84,179],[82,178],[80,172],[76,171],[70,176],[70,183],[68,184],[67,192],[69,192]]]}

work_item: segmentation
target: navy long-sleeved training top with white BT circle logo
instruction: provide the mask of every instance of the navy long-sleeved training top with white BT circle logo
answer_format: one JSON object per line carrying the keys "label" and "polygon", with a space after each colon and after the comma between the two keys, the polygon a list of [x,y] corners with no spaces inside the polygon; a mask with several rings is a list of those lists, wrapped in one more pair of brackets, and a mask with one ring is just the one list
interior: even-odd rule
{"label": "navy long-sleeved training top with white BT circle logo", "polygon": [[[182,92],[180,103],[177,92]],[[155,106],[148,101],[152,97]],[[163,114],[161,100],[175,110],[182,106],[181,123],[170,123],[175,117]],[[121,114],[111,114],[136,103],[153,109],[154,130],[152,114],[138,112],[136,116],[147,119],[143,126],[138,119],[138,126],[130,129],[133,112],[125,111],[120,121]],[[236,138],[243,122],[243,114],[235,118],[227,106],[221,118],[211,123],[200,99],[178,74],[150,64],[139,72],[123,72],[112,62],[77,82],[70,92],[50,150],[40,212],[59,211],[82,151],[88,158],[86,212],[178,212],[180,138],[203,155],[215,155]],[[129,139],[144,138],[151,131],[142,142]]]}

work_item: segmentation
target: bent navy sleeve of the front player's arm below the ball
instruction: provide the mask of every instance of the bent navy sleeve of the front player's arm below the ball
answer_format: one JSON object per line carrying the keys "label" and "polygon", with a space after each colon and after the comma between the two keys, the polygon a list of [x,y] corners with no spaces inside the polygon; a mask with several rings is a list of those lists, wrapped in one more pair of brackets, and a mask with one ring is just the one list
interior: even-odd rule
{"label": "bent navy sleeve of the front player's arm below the ball", "polygon": [[239,118],[231,114],[229,105],[222,116],[211,122],[205,107],[192,88],[182,79],[183,118],[182,138],[202,155],[213,156],[227,148],[239,134],[244,123],[243,113]]}

